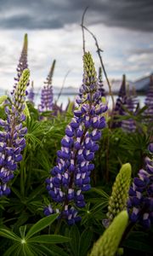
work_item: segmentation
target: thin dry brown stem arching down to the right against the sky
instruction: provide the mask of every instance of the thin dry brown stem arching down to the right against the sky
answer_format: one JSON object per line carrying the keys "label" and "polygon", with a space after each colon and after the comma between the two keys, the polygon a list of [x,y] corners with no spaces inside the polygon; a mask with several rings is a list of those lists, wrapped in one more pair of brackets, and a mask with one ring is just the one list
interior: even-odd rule
{"label": "thin dry brown stem arching down to the right against the sky", "polygon": [[97,53],[99,55],[99,61],[100,61],[101,67],[103,68],[103,71],[105,73],[105,79],[107,81],[107,84],[109,86],[109,95],[111,96],[111,100],[112,100],[112,108],[114,109],[115,108],[115,102],[114,102],[114,97],[113,97],[112,90],[111,90],[111,84],[110,84],[110,81],[109,81],[109,79],[107,77],[107,73],[105,71],[105,66],[104,66],[102,57],[100,55],[100,52],[102,52],[103,50],[99,48],[99,43],[98,43],[97,38],[94,36],[94,33],[89,31],[86,26],[83,26],[83,28],[86,29],[92,35],[92,37],[94,38],[94,41],[95,41],[95,44],[96,44],[96,47],[97,47]]}

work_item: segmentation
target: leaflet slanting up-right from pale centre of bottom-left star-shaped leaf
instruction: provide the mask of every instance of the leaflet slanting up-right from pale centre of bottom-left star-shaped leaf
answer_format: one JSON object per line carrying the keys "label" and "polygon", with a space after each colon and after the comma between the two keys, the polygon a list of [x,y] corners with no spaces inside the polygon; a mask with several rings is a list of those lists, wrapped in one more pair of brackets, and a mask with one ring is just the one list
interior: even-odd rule
{"label": "leaflet slanting up-right from pale centre of bottom-left star-shaped leaf", "polygon": [[39,220],[36,224],[34,224],[31,229],[26,234],[26,239],[30,238],[40,230],[43,230],[48,225],[52,224],[54,220],[58,217],[58,213],[54,213],[52,215],[49,215],[48,217],[42,218]]}

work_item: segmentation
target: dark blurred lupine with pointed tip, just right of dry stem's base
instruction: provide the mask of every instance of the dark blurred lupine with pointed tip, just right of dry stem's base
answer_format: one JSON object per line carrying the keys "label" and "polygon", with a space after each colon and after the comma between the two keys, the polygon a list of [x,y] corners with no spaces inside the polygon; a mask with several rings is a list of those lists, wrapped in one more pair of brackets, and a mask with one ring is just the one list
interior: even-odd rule
{"label": "dark blurred lupine with pointed tip, just right of dry stem's base", "polygon": [[121,127],[122,122],[116,121],[116,115],[123,115],[123,106],[126,103],[127,99],[127,91],[126,91],[126,76],[123,74],[122,76],[122,85],[118,93],[118,97],[116,99],[116,105],[115,108],[112,111],[113,114],[113,122],[112,122],[112,128]]}

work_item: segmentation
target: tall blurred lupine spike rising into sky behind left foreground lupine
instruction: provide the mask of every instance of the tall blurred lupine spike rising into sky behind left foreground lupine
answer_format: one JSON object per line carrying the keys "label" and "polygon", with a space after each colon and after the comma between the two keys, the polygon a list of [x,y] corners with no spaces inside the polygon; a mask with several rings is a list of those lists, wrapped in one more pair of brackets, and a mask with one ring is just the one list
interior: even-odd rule
{"label": "tall blurred lupine spike rising into sky behind left foreground lupine", "polygon": [[[21,55],[20,55],[20,60],[19,60],[19,64],[17,67],[17,77],[14,78],[14,80],[16,81],[16,83],[14,84],[14,90],[18,84],[18,82],[20,81],[20,76],[23,73],[23,71],[28,68],[28,64],[27,64],[27,48],[28,48],[28,40],[27,40],[27,34],[25,34],[24,37],[24,44],[23,44],[23,49],[21,51]],[[29,85],[29,82],[26,86]],[[14,90],[11,92],[11,94],[14,93]],[[26,95],[27,95],[27,91],[26,91]]]}

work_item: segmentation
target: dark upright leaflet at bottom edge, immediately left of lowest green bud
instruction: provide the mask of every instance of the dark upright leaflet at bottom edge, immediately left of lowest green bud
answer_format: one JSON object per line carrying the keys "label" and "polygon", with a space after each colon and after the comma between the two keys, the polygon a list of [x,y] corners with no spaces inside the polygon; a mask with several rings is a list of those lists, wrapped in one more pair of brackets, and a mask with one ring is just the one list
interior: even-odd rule
{"label": "dark upright leaflet at bottom edge, immediately left of lowest green bud", "polygon": [[86,256],[88,253],[88,248],[90,247],[93,238],[93,233],[91,230],[86,229],[82,232],[80,236],[80,256]]}

